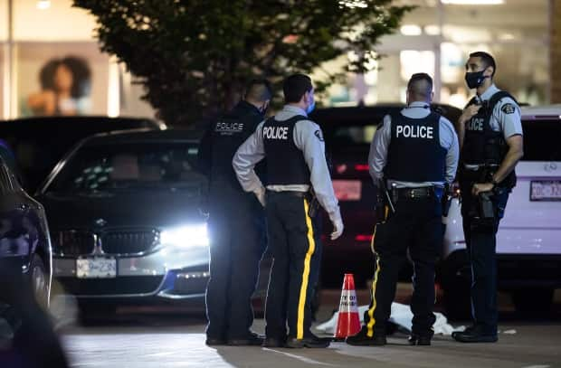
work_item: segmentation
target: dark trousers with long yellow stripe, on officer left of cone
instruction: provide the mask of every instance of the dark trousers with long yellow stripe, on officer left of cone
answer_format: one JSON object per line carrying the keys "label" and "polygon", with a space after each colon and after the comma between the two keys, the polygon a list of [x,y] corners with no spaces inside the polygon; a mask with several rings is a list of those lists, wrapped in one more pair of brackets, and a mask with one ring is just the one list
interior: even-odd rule
{"label": "dark trousers with long yellow stripe, on officer left of cone", "polygon": [[289,192],[267,193],[267,232],[273,257],[267,291],[266,335],[282,339],[311,333],[311,301],[318,282],[321,244],[309,202]]}

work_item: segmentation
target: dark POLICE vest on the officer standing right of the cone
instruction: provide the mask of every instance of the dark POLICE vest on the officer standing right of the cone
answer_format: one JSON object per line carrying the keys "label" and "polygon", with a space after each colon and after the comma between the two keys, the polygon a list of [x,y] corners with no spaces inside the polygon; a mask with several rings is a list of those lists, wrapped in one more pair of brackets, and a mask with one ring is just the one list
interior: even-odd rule
{"label": "dark POLICE vest on the officer standing right of the cone", "polygon": [[385,177],[401,182],[444,182],[447,150],[440,141],[440,115],[392,116]]}

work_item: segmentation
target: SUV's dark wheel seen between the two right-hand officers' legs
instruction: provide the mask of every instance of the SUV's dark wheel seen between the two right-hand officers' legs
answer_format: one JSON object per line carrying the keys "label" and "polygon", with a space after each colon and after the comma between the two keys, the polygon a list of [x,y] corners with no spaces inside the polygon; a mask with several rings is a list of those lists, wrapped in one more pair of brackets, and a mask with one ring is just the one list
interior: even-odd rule
{"label": "SUV's dark wheel seen between the two right-hand officers' legs", "polygon": [[465,251],[456,251],[442,261],[440,281],[444,313],[451,320],[471,318],[471,276]]}

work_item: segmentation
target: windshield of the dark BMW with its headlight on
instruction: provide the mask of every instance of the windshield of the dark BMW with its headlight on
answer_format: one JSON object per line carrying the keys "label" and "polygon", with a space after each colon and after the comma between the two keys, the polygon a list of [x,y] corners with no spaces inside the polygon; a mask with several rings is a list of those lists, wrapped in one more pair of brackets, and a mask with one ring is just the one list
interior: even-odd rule
{"label": "windshield of the dark BMW with its headlight on", "polygon": [[82,146],[56,175],[47,192],[196,189],[194,143],[125,143]]}

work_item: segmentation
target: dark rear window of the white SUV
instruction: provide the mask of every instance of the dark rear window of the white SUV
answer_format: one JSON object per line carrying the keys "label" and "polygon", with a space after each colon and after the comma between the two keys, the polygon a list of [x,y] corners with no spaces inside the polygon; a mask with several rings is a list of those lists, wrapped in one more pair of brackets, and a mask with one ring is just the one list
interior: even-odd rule
{"label": "dark rear window of the white SUV", "polygon": [[524,161],[561,161],[561,121],[523,121]]}

